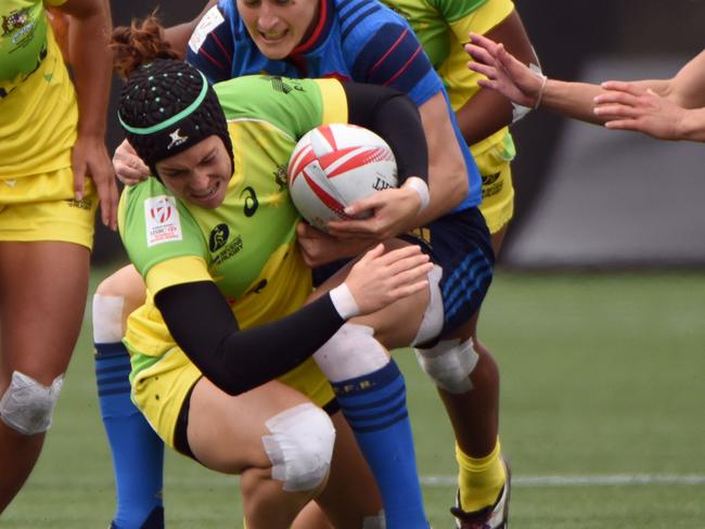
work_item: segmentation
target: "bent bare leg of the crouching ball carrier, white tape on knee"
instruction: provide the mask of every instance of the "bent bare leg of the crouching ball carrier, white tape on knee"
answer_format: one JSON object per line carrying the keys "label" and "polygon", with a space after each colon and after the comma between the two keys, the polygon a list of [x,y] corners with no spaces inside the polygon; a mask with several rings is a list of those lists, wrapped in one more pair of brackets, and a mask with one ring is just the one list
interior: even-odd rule
{"label": "bent bare leg of the crouching ball carrier, white tape on knee", "polygon": [[188,450],[196,461],[240,475],[248,529],[289,528],[323,489],[335,429],[298,391],[271,382],[231,397],[202,377],[187,413]]}

